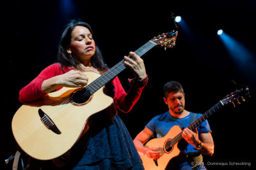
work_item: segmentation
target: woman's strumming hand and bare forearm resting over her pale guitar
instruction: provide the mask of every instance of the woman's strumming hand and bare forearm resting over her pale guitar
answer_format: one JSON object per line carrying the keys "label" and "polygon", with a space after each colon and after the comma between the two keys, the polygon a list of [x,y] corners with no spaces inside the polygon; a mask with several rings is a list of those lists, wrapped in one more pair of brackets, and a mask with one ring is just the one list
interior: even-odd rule
{"label": "woman's strumming hand and bare forearm resting over her pale guitar", "polygon": [[70,70],[67,73],[57,75],[42,83],[42,91],[50,93],[60,87],[81,88],[88,84],[88,77],[81,71]]}

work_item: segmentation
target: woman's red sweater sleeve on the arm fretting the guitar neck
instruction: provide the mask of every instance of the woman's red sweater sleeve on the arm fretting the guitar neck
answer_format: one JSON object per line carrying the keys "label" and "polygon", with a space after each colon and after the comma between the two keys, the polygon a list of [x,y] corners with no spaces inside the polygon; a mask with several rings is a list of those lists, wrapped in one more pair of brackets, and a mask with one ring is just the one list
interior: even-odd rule
{"label": "woman's red sweater sleeve on the arm fretting the guitar neck", "polygon": [[118,109],[122,112],[131,111],[134,104],[139,100],[142,90],[147,85],[147,82],[148,81],[132,81],[129,90],[126,93],[118,77],[113,79],[113,84],[115,86],[115,96],[113,99]]}

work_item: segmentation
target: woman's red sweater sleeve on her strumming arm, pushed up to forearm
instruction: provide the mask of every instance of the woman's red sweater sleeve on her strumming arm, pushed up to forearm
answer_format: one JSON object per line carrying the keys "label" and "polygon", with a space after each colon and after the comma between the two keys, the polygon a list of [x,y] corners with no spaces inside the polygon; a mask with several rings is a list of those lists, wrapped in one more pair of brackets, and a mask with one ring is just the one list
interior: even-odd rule
{"label": "woman's red sweater sleeve on her strumming arm, pushed up to forearm", "polygon": [[30,102],[34,102],[35,100],[43,97],[46,93],[42,91],[42,83],[54,77],[56,75],[61,74],[60,64],[56,63],[50,66],[47,66],[40,74],[33,79],[27,86],[20,89],[19,93],[19,101],[23,104],[28,104]]}

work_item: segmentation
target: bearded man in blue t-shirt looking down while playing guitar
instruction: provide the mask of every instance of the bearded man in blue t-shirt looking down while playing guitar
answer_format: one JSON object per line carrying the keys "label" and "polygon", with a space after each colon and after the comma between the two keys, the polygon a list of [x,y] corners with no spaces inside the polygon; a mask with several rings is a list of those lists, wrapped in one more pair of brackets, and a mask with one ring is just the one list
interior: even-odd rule
{"label": "bearded man in blue t-shirt looking down while playing guitar", "polygon": [[[140,155],[157,160],[163,155],[159,147],[150,146],[146,148],[143,144],[147,143],[152,137],[164,137],[170,128],[179,125],[182,130],[182,138],[186,140],[186,145],[180,148],[180,155],[185,155],[184,159],[175,157],[169,162],[168,167],[178,167],[178,169],[205,169],[202,162],[202,155],[211,156],[214,153],[214,143],[211,135],[211,128],[208,121],[204,121],[195,130],[189,130],[188,125],[193,123],[202,114],[195,114],[184,109],[185,94],[179,82],[170,81],[164,84],[164,103],[168,105],[168,111],[155,116],[145,126],[134,139],[134,144]],[[192,116],[191,116],[192,115]],[[191,122],[192,121],[192,122]],[[182,143],[182,141],[180,141]],[[179,143],[179,144],[180,144]],[[178,147],[179,147],[178,144]],[[202,155],[201,155],[202,154]],[[177,159],[176,159],[177,158]],[[179,163],[178,161],[179,160]]]}

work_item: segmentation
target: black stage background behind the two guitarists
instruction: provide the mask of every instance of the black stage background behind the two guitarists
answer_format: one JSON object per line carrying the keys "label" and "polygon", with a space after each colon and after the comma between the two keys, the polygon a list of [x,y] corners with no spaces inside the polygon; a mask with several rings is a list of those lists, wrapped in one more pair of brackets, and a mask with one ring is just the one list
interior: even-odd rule
{"label": "black stage background behind the two guitarists", "polygon": [[[154,47],[142,57],[148,84],[132,111],[119,115],[133,139],[151,118],[167,111],[162,91],[168,81],[179,81],[186,94],[186,109],[201,113],[236,90],[232,80],[246,84],[252,95],[248,102],[236,108],[223,107],[209,118],[215,150],[204,161],[206,166],[208,162],[208,169],[252,168],[256,85],[254,1],[76,0],[66,6],[64,3],[17,0],[1,4],[1,165],[17,150],[11,125],[13,114],[21,106],[19,90],[56,61],[58,41],[68,20],[79,18],[92,25],[104,59],[111,67],[154,36],[171,31],[173,12],[182,16],[189,31],[178,23],[179,35],[173,49]],[[244,45],[253,56],[249,63],[241,67],[234,61],[216,34],[218,29]],[[124,70],[118,77],[128,89],[127,79],[133,78],[132,73]],[[250,162],[251,166],[214,166],[214,162]]]}

